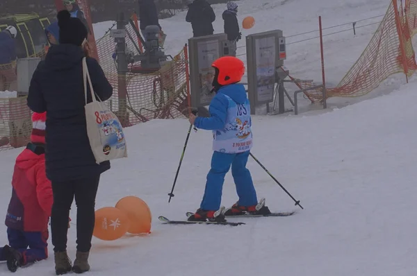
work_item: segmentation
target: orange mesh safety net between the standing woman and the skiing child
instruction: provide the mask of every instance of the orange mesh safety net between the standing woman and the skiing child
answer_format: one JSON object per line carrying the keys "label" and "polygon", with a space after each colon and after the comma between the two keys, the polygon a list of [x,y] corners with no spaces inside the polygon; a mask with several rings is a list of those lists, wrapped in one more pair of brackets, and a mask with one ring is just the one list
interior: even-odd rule
{"label": "orange mesh safety net between the standing woman and the skiing child", "polygon": [[[115,28],[115,26],[113,26]],[[138,38],[130,25],[126,25],[126,53],[138,54]],[[188,57],[186,47],[161,69],[142,69],[140,62],[129,64],[126,76],[117,74],[117,64],[112,58],[116,42],[109,34],[97,41],[101,67],[113,86],[113,96],[108,101],[111,110],[124,126],[151,119],[174,119],[188,114]],[[126,90],[123,88],[126,83]]]}

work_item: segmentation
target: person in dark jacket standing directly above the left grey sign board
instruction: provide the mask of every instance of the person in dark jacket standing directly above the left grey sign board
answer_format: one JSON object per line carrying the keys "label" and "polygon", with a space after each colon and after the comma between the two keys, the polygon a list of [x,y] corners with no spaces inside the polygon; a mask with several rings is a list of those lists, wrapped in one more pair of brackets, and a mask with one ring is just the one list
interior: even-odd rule
{"label": "person in dark jacket standing directly above the left grey sign board", "polygon": [[194,0],[188,5],[186,21],[191,23],[194,37],[213,35],[215,13],[206,0]]}

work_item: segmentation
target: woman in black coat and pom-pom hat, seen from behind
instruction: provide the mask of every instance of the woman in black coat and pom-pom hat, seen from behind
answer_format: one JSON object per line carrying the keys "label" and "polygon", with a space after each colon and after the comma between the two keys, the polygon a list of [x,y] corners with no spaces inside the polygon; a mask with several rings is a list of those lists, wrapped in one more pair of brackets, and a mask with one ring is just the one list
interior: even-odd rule
{"label": "woman in black coat and pom-pom hat, seen from behind", "polygon": [[[59,44],[51,46],[33,73],[27,101],[33,112],[47,112],[46,171],[54,193],[51,234],[55,269],[61,275],[70,270],[83,273],[90,269],[88,255],[95,225],[95,198],[100,175],[110,169],[110,162],[96,163],[87,135],[82,69],[87,29],[78,18],[70,17],[67,10],[58,12],[58,26]],[[95,93],[101,101],[108,100],[113,88],[103,70],[97,60],[86,61]],[[92,101],[90,91],[87,101]],[[72,266],[66,250],[74,196],[77,252]]]}

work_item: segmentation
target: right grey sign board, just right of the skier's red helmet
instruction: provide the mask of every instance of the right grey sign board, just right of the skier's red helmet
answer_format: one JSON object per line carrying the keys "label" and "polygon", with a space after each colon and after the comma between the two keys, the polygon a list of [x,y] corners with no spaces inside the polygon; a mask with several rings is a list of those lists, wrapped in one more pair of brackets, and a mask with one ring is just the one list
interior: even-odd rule
{"label": "right grey sign board, just right of the skier's red helmet", "polygon": [[276,69],[286,59],[285,37],[281,30],[248,35],[246,51],[248,94],[255,114],[256,106],[274,101]]}

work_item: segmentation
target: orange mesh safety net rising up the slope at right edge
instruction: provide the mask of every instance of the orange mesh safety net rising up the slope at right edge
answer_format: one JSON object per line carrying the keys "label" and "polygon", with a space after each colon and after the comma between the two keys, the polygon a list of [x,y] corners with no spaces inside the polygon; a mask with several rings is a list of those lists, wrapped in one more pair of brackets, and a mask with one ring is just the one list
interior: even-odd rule
{"label": "orange mesh safety net rising up the slope at right edge", "polygon": [[[411,44],[411,30],[409,20],[402,11],[402,6],[397,7],[393,0],[357,62],[336,87],[327,87],[327,98],[363,96],[393,74],[414,74],[417,64]],[[321,89],[308,91],[306,95],[312,102],[322,101]]]}

